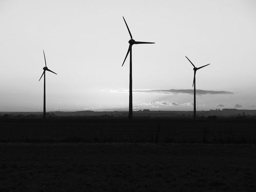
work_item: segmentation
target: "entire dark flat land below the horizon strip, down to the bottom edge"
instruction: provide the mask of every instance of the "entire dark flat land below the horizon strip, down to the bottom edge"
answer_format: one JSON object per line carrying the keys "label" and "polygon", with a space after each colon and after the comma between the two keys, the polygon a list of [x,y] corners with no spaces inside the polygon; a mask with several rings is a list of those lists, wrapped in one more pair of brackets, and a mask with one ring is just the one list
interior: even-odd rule
{"label": "entire dark flat land below the horizon strip, down to the bottom edge", "polygon": [[256,191],[256,121],[2,119],[3,191]]}

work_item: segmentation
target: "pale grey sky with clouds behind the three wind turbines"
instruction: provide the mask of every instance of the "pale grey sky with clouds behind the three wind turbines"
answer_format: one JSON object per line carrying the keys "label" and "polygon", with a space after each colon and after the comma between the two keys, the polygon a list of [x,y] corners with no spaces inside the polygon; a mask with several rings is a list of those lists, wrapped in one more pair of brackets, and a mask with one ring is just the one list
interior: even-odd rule
{"label": "pale grey sky with clouds behind the three wind turbines", "polygon": [[256,110],[254,0],[0,0],[0,111],[42,111],[42,50],[47,111],[127,110],[122,16],[134,110],[193,110],[185,56],[198,110]]}

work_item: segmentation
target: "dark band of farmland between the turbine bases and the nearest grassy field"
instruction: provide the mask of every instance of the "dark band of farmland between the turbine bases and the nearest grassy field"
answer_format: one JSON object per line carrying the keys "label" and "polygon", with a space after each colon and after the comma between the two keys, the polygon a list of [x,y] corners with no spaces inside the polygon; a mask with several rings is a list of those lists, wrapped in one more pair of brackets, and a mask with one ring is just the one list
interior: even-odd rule
{"label": "dark band of farmland between the turbine bases and the nearest grassy field", "polygon": [[256,121],[1,120],[0,142],[255,143]]}

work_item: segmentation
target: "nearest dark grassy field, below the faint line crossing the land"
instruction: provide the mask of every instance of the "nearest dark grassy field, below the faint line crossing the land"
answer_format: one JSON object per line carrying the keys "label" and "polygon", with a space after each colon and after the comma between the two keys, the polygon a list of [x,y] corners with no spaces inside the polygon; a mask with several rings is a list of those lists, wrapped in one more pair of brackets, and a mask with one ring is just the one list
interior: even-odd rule
{"label": "nearest dark grassy field, below the faint line crossing the land", "polygon": [[0,191],[255,191],[255,144],[1,143]]}

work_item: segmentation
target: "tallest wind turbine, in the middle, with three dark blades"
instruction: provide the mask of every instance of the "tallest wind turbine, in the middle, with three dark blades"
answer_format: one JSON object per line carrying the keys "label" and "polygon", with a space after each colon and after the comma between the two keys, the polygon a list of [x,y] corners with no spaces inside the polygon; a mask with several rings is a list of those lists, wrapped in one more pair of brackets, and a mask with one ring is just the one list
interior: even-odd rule
{"label": "tallest wind turbine, in the middle, with three dark blades", "polygon": [[[125,59],[127,58],[127,55],[130,53],[130,89],[129,89],[129,119],[132,119],[133,118],[133,76],[132,76],[132,47],[134,44],[155,44],[155,42],[142,42],[142,41],[135,41],[133,39],[133,36],[131,34],[131,31],[123,17],[123,20],[124,20],[124,23],[128,29],[128,32],[130,34],[130,37],[131,39],[128,41],[129,42],[129,48],[128,48],[128,51],[126,53],[126,56],[124,58],[124,61]],[[124,64],[124,61],[123,61],[123,64]],[[122,64],[122,66],[123,66]]]}

